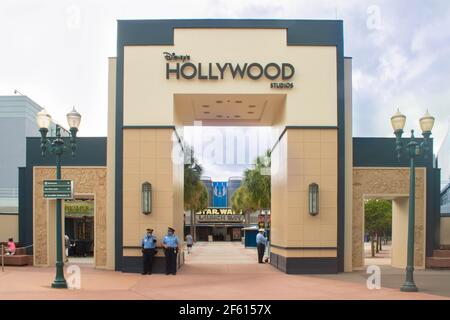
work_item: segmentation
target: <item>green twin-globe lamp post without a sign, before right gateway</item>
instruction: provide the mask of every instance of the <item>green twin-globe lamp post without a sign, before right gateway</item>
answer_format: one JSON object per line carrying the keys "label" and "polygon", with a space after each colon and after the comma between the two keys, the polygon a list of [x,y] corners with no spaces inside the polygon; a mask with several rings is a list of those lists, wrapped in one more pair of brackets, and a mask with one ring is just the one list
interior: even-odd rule
{"label": "green twin-globe lamp post without a sign, before right gateway", "polygon": [[405,127],[406,117],[400,113],[399,110],[391,117],[392,128],[396,137],[396,152],[397,158],[400,161],[402,151],[405,150],[409,158],[409,215],[408,215],[408,251],[407,251],[407,265],[406,265],[406,279],[400,288],[405,292],[418,291],[414,283],[414,220],[415,220],[415,159],[421,155],[427,158],[429,151],[429,139],[431,130],[434,126],[434,117],[428,111],[420,118],[420,128],[422,129],[422,136],[424,138],[422,143],[414,140],[414,130],[411,130],[411,139],[405,146],[402,143],[403,128]]}

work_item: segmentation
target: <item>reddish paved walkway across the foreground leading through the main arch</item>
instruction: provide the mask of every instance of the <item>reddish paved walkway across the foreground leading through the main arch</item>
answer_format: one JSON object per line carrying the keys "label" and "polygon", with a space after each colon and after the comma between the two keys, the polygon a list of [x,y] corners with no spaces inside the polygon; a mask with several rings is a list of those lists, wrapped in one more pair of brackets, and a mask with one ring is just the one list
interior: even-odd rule
{"label": "reddish paved walkway across the foreground leading through the main arch", "polygon": [[[238,254],[239,253],[239,254]],[[55,269],[5,267],[0,299],[445,299],[450,271],[416,273],[419,293],[403,293],[403,271],[382,276],[380,290],[368,290],[364,272],[287,275],[256,263],[256,250],[239,243],[197,243],[176,276],[140,275],[81,265],[81,289],[50,287]],[[386,274],[391,269],[386,271]],[[396,273],[397,272],[397,273]],[[428,273],[427,273],[428,272]],[[428,277],[428,278],[427,278]],[[385,285],[389,280],[389,286]],[[439,287],[440,284],[440,287]],[[447,298],[448,299],[448,298]]]}

